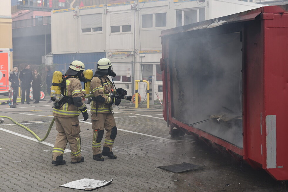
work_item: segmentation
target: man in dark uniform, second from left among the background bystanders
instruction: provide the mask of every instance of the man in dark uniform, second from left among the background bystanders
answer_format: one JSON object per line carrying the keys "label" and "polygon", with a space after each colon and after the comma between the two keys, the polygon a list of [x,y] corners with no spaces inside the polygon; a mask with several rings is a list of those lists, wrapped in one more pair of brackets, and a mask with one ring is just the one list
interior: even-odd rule
{"label": "man in dark uniform, second from left among the background bystanders", "polygon": [[19,79],[21,80],[21,104],[24,104],[25,101],[25,92],[26,92],[26,103],[30,104],[30,87],[33,80],[32,71],[30,70],[30,65],[25,65],[25,69],[20,71]]}

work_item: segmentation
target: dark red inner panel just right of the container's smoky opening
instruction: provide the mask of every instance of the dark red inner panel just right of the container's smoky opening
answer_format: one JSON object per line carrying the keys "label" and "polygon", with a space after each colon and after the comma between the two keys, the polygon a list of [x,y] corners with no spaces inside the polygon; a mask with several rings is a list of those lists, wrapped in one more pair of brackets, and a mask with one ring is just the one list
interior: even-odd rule
{"label": "dark red inner panel just right of the container's smoky opening", "polygon": [[[263,43],[261,22],[253,21],[247,25],[247,157],[262,164],[261,145],[263,145]],[[263,147],[263,146],[262,146]]]}

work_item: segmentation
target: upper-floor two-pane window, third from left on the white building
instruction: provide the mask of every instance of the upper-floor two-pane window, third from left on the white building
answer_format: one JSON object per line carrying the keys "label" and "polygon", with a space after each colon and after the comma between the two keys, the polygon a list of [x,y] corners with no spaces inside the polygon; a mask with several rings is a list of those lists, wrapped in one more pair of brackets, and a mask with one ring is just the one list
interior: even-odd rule
{"label": "upper-floor two-pane window, third from left on the white building", "polygon": [[142,15],[142,28],[166,27],[166,13]]}

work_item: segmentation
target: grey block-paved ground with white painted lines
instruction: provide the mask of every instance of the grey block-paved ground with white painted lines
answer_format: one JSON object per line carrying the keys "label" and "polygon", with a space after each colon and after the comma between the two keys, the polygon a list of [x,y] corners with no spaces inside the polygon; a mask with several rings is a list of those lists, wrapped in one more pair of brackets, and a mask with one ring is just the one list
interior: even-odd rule
{"label": "grey block-paved ground with white painted lines", "polygon": [[[53,118],[52,105],[46,102],[20,104],[17,108],[0,105],[0,115],[13,118],[43,138]],[[117,159],[92,159],[88,119],[80,123],[85,161],[71,164],[70,154],[64,153],[67,163],[62,166],[51,164],[55,125],[45,142],[36,142],[27,130],[4,119],[0,123],[0,191],[81,191],[59,186],[82,178],[113,178],[110,185],[95,190],[103,192],[286,191],[285,183],[274,181],[266,172],[253,170],[190,135],[171,139],[161,109],[120,106],[114,107],[114,116],[118,134],[113,152]],[[205,168],[178,174],[157,168],[182,162]]]}

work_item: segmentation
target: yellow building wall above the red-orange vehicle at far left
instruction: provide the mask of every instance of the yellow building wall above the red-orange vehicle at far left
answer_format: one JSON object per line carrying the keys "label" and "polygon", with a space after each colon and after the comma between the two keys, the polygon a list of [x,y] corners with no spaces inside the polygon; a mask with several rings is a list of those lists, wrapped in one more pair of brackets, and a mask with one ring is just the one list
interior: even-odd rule
{"label": "yellow building wall above the red-orange vehicle at far left", "polygon": [[[0,18],[0,48],[12,49],[12,19]],[[10,52],[10,69],[13,68],[13,55]]]}

